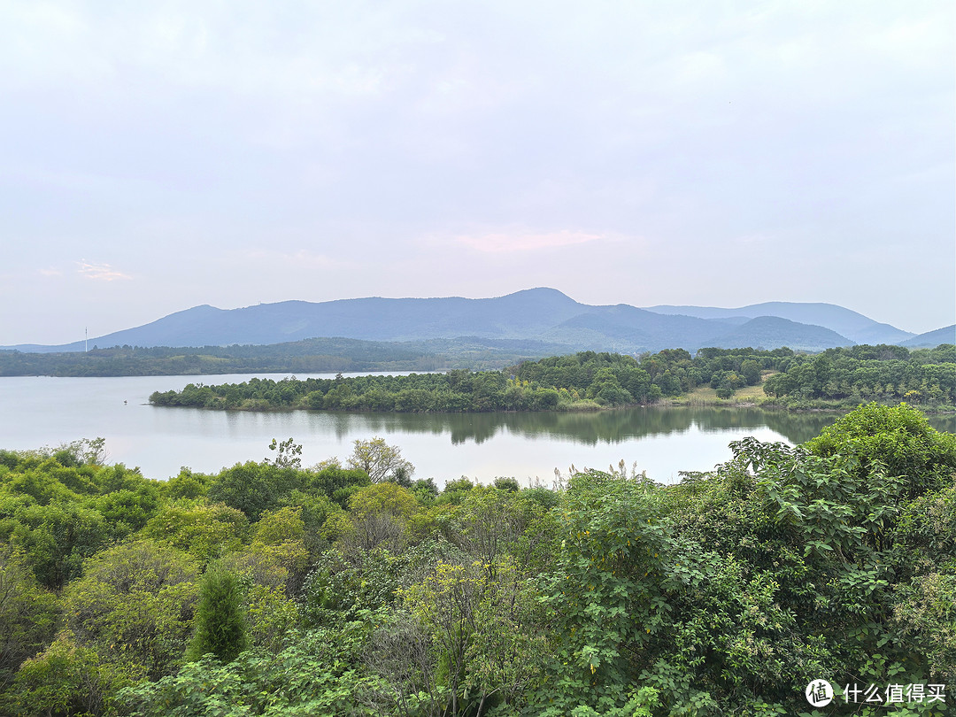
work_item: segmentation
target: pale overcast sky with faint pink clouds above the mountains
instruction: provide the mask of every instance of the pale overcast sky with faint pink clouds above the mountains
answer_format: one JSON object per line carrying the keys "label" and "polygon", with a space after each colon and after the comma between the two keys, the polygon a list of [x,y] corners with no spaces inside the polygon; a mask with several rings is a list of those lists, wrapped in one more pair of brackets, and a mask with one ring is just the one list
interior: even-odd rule
{"label": "pale overcast sky with faint pink clouds above the mountains", "polygon": [[956,5],[0,0],[0,345],[200,304],[956,321]]}

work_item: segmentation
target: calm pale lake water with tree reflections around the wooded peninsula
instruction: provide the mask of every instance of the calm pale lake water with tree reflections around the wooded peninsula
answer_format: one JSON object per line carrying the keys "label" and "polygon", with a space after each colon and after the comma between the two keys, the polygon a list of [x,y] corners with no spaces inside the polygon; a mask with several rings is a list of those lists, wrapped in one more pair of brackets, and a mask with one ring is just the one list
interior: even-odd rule
{"label": "calm pale lake water with tree reflections around the wooded peninsula", "polygon": [[[260,374],[265,378],[266,375]],[[744,436],[801,443],[834,421],[832,414],[764,413],[754,409],[629,409],[597,413],[377,414],[293,411],[247,413],[159,408],[153,391],[190,382],[239,382],[250,376],[57,379],[0,378],[0,447],[59,445],[106,439],[111,463],[167,478],[187,466],[215,472],[271,455],[272,438],[303,445],[304,465],[331,456],[343,461],[357,439],[383,437],[402,447],[416,478],[439,485],[467,475],[487,482],[513,476],[546,485],[554,468],[606,468],[623,459],[660,482],[681,470],[707,470],[730,457]],[[281,379],[280,376],[272,376]],[[299,378],[306,378],[300,376]],[[932,417],[956,431],[956,417]]]}

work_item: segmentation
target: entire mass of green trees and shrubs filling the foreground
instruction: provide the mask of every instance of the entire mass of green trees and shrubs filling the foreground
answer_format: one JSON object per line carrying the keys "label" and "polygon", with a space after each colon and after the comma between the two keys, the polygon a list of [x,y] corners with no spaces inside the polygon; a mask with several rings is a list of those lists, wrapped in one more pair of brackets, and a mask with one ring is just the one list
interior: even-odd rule
{"label": "entire mass of green trees and shrubs filling the foreground", "polygon": [[[293,441],[271,447],[168,482],[100,465],[98,441],[0,451],[0,713],[902,717],[956,700],[956,436],[906,406],[795,448],[746,439],[671,487],[620,466],[440,491],[383,442],[308,469]],[[819,678],[948,689],[814,711]]]}

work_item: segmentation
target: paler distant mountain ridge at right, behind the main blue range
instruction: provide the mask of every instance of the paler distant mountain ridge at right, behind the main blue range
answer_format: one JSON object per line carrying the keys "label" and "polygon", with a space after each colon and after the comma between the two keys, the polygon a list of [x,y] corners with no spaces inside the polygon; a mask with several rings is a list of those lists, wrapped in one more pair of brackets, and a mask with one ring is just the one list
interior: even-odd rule
{"label": "paler distant mountain ridge at right, behind the main blue range", "polygon": [[[750,304],[739,309],[719,309],[712,306],[651,306],[648,311],[666,315],[699,316],[700,318],[757,318],[759,316],[779,316],[797,323],[823,326],[847,337],[856,343],[899,344],[915,336],[895,326],[882,324],[868,316],[844,309],[836,304],[793,303],[789,301],[767,301],[762,304]],[[792,347],[793,348],[793,347]]]}

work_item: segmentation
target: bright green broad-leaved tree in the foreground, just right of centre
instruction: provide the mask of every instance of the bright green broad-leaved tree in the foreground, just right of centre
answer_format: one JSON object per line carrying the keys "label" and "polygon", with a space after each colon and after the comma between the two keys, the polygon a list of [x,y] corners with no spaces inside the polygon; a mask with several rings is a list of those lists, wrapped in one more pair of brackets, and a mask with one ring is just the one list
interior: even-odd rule
{"label": "bright green broad-leaved tree in the foreground, just right of centre", "polygon": [[584,705],[604,713],[627,702],[628,685],[649,666],[645,647],[670,624],[666,591],[681,584],[682,562],[690,568],[653,484],[587,471],[572,476],[565,498],[544,588],[554,682],[540,697],[548,714]]}

